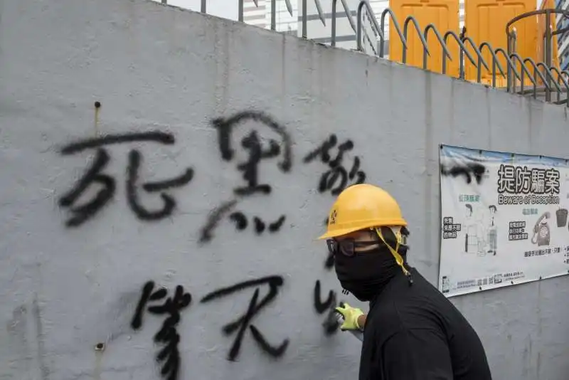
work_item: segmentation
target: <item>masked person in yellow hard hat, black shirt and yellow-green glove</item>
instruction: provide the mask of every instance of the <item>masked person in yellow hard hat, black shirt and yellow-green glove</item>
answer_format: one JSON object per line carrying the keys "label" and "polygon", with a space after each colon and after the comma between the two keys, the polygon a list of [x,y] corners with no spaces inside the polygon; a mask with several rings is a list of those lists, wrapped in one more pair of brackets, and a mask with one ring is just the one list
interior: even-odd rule
{"label": "masked person in yellow hard hat, black shirt and yellow-green glove", "polygon": [[[369,302],[368,315],[344,304],[341,329],[362,329],[360,380],[491,380],[469,322],[406,263],[407,222],[383,189],[349,186],[321,239],[345,290]],[[365,327],[365,329],[364,329]]]}

